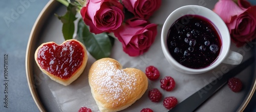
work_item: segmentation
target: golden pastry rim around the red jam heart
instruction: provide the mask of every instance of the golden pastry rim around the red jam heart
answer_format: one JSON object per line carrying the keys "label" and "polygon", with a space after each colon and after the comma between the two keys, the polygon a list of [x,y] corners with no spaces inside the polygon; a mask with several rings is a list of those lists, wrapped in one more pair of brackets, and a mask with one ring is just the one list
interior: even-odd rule
{"label": "golden pastry rim around the red jam heart", "polygon": [[[84,47],[84,45],[83,45],[80,41],[78,41],[78,40],[76,40],[76,39],[69,39],[69,40],[66,40],[66,41],[64,41],[63,43],[61,43],[60,46],[61,46],[62,44],[64,44],[64,43],[66,43],[67,41],[77,41],[77,42],[82,46],[82,48],[83,48],[83,53],[84,53],[83,59],[82,59],[82,64],[79,66],[79,68],[78,68],[78,69],[71,75],[71,77],[68,78],[68,79],[62,79],[62,78],[60,78],[60,77],[57,77],[57,76],[55,76],[55,75],[49,73],[49,72],[46,71],[45,69],[42,69],[41,66],[40,66],[40,64],[39,64],[38,61],[37,61],[38,50],[39,50],[40,48],[42,48],[42,46],[44,46],[45,44],[55,43],[55,42],[51,41],[51,42],[42,43],[42,44],[36,49],[36,51],[35,51],[35,61],[36,61],[36,64],[38,65],[39,69],[40,69],[42,72],[44,72],[46,75],[48,75],[52,80],[54,80],[54,81],[56,81],[56,82],[58,82],[58,83],[60,83],[60,84],[62,84],[62,85],[65,85],[65,86],[67,86],[67,85],[69,85],[70,83],[72,83],[73,81],[75,81],[75,80],[82,74],[84,68],[86,68],[86,64],[87,64],[87,60],[88,60],[88,55],[87,55],[86,47]],[[55,44],[56,44],[56,43],[55,43]]]}

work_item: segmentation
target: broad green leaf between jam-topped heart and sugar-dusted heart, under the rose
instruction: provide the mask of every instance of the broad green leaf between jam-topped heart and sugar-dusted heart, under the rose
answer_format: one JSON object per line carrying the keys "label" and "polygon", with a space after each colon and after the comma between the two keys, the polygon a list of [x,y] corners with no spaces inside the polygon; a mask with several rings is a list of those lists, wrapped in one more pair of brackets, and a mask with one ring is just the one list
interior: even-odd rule
{"label": "broad green leaf between jam-topped heart and sugar-dusted heart, under the rose", "polygon": [[81,41],[95,59],[109,57],[112,49],[111,41],[106,33],[94,34],[89,31],[82,19],[78,22],[77,39]]}

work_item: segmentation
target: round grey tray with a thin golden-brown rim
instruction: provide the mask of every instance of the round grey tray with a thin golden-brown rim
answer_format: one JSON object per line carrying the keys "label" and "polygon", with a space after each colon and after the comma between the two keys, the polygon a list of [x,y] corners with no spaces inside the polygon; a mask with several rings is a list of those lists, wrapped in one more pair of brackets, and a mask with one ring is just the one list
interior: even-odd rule
{"label": "round grey tray with a thin golden-brown rim", "polygon": [[[167,16],[175,9],[184,5],[204,5],[212,9],[217,1],[205,1],[203,4],[195,1],[169,1],[162,0],[161,8],[151,17],[150,21],[155,24],[162,25]],[[88,84],[88,70],[95,59],[89,54],[87,67],[82,75],[68,86],[63,86],[51,80],[42,73],[34,60],[36,48],[43,42],[55,41],[60,44],[63,41],[61,27],[62,24],[54,13],[63,15],[66,7],[57,1],[49,1],[46,7],[38,16],[28,41],[26,54],[26,72],[28,84],[33,99],[40,111],[77,111],[82,106],[87,106],[93,111],[98,111],[98,107],[91,95],[90,86]],[[221,64],[212,71],[204,74],[188,75],[182,74],[172,68],[165,59],[160,46],[161,27],[158,27],[158,34],[155,42],[150,50],[138,57],[130,57],[122,51],[122,45],[119,41],[115,41],[111,58],[118,60],[123,68],[137,68],[145,71],[146,66],[156,66],[161,76],[157,81],[149,81],[148,89],[159,88],[163,97],[175,96],[178,102],[182,102],[190,95],[197,92],[204,85],[208,84],[212,78],[216,76],[223,66],[232,69],[234,66]],[[245,46],[237,48],[231,44],[231,50],[240,52],[244,56],[244,60],[254,55],[254,47]],[[242,92],[234,93],[227,85],[222,87],[215,95],[208,99],[197,111],[242,111],[250,101],[255,91],[255,70],[254,65],[245,69],[236,77],[240,78],[244,84]],[[160,88],[160,79],[164,76],[172,76],[176,81],[176,87],[172,92],[166,92]],[[147,98],[147,92],[141,99],[132,106],[122,111],[140,111],[142,108],[150,107],[154,111],[168,111],[163,107],[162,101],[153,103]],[[193,102],[191,102],[193,103]]]}

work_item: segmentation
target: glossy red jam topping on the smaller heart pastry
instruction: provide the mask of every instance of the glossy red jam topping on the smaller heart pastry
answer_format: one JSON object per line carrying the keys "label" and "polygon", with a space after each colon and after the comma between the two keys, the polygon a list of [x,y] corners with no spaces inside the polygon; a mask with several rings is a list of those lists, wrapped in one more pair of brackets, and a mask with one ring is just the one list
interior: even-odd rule
{"label": "glossy red jam topping on the smaller heart pastry", "polygon": [[37,61],[42,69],[62,79],[68,79],[82,64],[83,56],[81,44],[72,40],[61,46],[55,43],[45,44],[38,50]]}

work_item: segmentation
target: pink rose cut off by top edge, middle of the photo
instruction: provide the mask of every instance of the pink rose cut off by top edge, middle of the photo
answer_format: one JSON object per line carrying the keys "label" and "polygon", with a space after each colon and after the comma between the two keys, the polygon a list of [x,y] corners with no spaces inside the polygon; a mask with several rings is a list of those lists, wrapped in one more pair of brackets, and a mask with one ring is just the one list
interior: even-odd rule
{"label": "pink rose cut off by top edge, middle of the photo", "polygon": [[148,19],[159,9],[161,0],[122,0],[122,3],[135,17]]}

